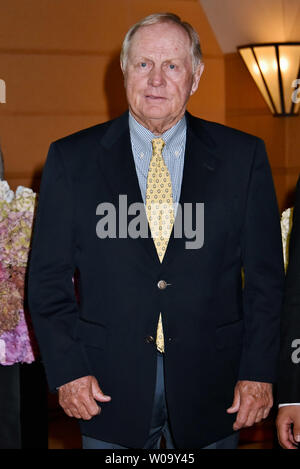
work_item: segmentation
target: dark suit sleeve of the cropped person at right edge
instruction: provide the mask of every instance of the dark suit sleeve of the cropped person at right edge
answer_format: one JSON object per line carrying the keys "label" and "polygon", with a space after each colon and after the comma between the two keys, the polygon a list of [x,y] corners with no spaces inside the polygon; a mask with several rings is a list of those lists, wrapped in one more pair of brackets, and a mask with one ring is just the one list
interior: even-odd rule
{"label": "dark suit sleeve of the cropped person at right edge", "polygon": [[296,189],[281,314],[279,403],[300,402],[300,178]]}

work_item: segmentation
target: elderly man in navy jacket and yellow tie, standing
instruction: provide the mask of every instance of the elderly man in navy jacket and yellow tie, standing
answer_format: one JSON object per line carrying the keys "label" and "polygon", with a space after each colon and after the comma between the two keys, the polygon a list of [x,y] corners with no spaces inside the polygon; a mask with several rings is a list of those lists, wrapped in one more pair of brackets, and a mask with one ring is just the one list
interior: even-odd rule
{"label": "elderly man in navy jacket and yellow tie, standing", "polygon": [[84,448],[234,448],[276,379],[264,144],[186,112],[203,63],[177,16],[134,25],[121,67],[129,112],[52,143],[43,173],[29,302],[49,386]]}

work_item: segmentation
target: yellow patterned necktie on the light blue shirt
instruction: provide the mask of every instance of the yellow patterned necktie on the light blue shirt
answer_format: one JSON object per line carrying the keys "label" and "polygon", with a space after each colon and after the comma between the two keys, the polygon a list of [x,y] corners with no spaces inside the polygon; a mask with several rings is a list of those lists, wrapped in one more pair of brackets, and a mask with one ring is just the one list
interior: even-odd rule
{"label": "yellow patterned necktie on the light blue shirt", "polygon": [[[163,261],[166,253],[174,224],[172,182],[162,156],[164,145],[165,142],[162,138],[154,138],[152,140],[153,152],[146,190],[146,213],[160,262]],[[164,352],[161,313],[157,326],[156,347],[160,352]]]}

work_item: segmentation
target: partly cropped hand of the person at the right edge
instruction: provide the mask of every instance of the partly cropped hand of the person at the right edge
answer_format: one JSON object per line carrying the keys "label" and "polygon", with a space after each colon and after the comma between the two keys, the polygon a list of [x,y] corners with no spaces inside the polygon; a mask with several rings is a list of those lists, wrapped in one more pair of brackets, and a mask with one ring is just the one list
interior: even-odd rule
{"label": "partly cropped hand of the person at the right edge", "polygon": [[297,449],[300,442],[300,406],[280,407],[276,426],[280,445],[285,449]]}

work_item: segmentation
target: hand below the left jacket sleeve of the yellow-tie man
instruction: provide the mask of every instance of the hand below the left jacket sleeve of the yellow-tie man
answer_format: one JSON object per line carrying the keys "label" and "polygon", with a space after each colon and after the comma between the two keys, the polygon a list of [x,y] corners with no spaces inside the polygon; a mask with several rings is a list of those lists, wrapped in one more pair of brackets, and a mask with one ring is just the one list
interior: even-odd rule
{"label": "hand below the left jacket sleeve of the yellow-tie man", "polygon": [[59,404],[69,417],[90,420],[100,414],[101,407],[96,401],[109,402],[94,376],[84,376],[64,384],[58,390]]}

